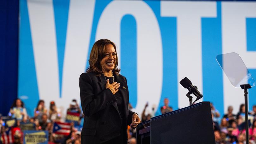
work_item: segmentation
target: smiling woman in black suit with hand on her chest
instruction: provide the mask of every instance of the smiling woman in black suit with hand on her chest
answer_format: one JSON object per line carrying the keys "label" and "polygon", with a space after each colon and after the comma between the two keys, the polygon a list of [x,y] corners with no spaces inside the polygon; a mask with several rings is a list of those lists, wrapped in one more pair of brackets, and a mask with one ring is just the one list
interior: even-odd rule
{"label": "smiling woman in black suit with hand on her chest", "polygon": [[115,44],[108,39],[96,41],[89,64],[79,79],[84,113],[81,143],[127,143],[127,125],[136,128],[140,118],[128,110],[127,81],[117,68]]}

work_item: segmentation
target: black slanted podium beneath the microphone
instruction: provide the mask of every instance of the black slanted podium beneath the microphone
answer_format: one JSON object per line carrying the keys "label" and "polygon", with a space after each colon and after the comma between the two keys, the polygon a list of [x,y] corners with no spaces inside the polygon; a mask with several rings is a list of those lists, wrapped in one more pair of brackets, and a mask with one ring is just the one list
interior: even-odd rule
{"label": "black slanted podium beneath the microphone", "polygon": [[137,126],[137,144],[215,144],[210,102],[172,111]]}

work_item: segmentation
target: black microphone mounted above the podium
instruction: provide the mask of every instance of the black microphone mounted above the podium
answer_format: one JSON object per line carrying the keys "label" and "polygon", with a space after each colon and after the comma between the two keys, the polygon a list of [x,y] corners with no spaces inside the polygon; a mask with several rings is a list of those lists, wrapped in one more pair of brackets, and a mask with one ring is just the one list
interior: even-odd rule
{"label": "black microphone mounted above the podium", "polygon": [[186,94],[187,97],[189,97],[190,94],[194,94],[197,97],[197,99],[195,101],[197,101],[198,99],[201,99],[203,97],[203,95],[200,92],[198,92],[197,86],[193,86],[192,82],[187,77],[182,79],[180,81],[180,84],[183,87],[185,87],[186,89],[188,89],[188,93]]}

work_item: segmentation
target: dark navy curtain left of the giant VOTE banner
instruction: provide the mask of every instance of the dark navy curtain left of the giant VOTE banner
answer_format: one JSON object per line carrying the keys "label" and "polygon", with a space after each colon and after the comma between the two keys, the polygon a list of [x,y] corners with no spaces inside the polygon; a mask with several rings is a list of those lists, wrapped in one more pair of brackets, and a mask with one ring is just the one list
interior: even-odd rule
{"label": "dark navy curtain left of the giant VOTE banner", "polygon": [[17,98],[19,1],[0,1],[0,113]]}

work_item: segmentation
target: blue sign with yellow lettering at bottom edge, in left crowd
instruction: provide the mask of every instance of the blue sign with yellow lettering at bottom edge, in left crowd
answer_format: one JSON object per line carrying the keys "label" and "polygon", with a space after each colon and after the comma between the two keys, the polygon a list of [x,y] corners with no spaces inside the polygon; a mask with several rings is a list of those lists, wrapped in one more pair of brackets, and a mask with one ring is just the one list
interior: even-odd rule
{"label": "blue sign with yellow lettering at bottom edge, in left crowd", "polygon": [[48,144],[48,131],[35,131],[35,130],[24,130],[23,131],[23,143],[38,143]]}

